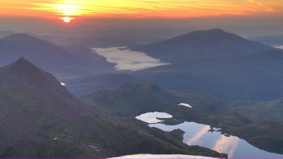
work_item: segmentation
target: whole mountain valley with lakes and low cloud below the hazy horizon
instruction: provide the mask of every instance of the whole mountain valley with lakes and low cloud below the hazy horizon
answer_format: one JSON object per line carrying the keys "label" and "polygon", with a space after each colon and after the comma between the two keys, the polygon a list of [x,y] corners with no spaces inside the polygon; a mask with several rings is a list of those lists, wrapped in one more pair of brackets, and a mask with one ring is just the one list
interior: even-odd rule
{"label": "whole mountain valley with lakes and low cloud below the hazy horizon", "polygon": [[280,48],[221,29],[109,48],[1,34],[0,158],[283,157]]}

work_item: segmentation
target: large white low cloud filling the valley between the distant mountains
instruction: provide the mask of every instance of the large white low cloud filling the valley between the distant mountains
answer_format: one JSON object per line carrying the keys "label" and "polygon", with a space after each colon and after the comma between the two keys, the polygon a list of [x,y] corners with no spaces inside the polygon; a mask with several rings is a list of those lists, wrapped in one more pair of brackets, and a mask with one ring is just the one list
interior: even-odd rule
{"label": "large white low cloud filling the valley between the distant mountains", "polygon": [[110,48],[92,48],[99,55],[104,56],[110,63],[117,63],[116,70],[142,70],[159,65],[168,65],[159,59],[154,59],[144,52],[135,52],[131,50],[119,50],[121,47]]}

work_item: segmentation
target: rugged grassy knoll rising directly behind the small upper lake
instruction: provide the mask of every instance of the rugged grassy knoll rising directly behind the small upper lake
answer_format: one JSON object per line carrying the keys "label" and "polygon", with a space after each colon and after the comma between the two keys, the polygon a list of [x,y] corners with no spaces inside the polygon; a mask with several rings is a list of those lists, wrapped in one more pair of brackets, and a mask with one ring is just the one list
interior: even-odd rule
{"label": "rugged grassy knoll rising directly behind the small upper lake", "polygon": [[[107,112],[121,117],[135,116],[142,112],[161,111],[176,119],[200,120],[205,114],[197,109],[177,106],[162,98],[167,94],[154,84],[124,83],[120,89],[101,90],[80,98]],[[162,94],[162,96],[160,95]]]}

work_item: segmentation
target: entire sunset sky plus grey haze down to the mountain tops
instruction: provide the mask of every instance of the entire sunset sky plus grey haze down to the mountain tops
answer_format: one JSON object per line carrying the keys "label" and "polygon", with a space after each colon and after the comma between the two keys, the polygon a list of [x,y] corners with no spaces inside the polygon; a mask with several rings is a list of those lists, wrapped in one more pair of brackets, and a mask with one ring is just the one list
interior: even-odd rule
{"label": "entire sunset sky plus grey haze down to the mountain tops", "polygon": [[[1,30],[40,35],[166,39],[211,28],[243,37],[283,34],[280,0],[184,0],[174,4],[166,0],[0,2]],[[72,23],[61,23],[64,17],[70,17]]]}

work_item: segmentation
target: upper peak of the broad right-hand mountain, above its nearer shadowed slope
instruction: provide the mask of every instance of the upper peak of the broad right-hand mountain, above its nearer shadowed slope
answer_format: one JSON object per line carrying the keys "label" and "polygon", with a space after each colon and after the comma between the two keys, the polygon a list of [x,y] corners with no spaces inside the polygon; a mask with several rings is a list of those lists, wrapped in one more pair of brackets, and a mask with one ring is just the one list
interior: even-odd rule
{"label": "upper peak of the broad right-hand mountain, above its nearer shadowed slope", "polygon": [[222,29],[193,31],[175,38],[127,47],[169,63],[195,61],[210,57],[239,56],[273,50],[274,47],[244,39]]}

